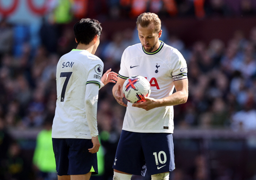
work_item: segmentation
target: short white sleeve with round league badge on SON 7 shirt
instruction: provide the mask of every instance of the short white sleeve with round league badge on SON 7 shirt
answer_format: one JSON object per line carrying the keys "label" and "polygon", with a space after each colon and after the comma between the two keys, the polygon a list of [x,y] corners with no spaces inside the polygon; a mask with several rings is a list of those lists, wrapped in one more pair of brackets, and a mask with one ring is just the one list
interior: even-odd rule
{"label": "short white sleeve with round league badge on SON 7 shirt", "polygon": [[88,68],[89,74],[86,84],[95,83],[101,87],[101,77],[103,74],[103,62],[99,59],[93,60]]}

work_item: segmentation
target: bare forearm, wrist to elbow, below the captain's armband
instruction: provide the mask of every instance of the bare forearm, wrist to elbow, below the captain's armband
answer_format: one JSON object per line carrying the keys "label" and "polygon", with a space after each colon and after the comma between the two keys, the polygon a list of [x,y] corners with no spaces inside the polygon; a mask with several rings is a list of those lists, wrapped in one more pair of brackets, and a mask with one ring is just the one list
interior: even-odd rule
{"label": "bare forearm, wrist to elbow, below the captain's armband", "polygon": [[161,106],[174,106],[187,102],[188,93],[185,91],[177,91],[166,98],[158,99],[159,107]]}

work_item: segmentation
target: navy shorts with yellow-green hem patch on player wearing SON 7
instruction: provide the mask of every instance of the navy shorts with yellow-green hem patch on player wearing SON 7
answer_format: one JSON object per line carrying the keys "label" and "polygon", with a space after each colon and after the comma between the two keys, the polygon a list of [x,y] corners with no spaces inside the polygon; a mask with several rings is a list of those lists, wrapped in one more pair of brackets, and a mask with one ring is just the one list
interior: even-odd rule
{"label": "navy shorts with yellow-green hem patch on player wearing SON 7", "polygon": [[52,138],[56,171],[59,176],[98,174],[97,153],[90,153],[91,139]]}

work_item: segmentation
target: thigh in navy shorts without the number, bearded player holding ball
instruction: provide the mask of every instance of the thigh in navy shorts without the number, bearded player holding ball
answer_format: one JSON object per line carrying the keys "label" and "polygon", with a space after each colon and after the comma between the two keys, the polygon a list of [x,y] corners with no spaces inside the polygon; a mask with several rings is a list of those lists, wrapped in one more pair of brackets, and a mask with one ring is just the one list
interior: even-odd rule
{"label": "thigh in navy shorts without the number, bearded player holding ball", "polygon": [[113,169],[133,175],[146,171],[139,133],[122,130]]}

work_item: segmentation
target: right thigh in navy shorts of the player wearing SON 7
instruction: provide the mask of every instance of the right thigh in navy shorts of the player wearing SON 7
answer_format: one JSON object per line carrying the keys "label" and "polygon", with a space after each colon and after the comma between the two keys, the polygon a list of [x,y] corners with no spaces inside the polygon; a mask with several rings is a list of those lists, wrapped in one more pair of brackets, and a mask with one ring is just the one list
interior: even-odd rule
{"label": "right thigh in navy shorts of the player wearing SON 7", "polygon": [[91,139],[70,138],[67,139],[67,144],[69,175],[86,175],[89,172],[98,174],[97,153],[90,153],[88,150],[93,147]]}

